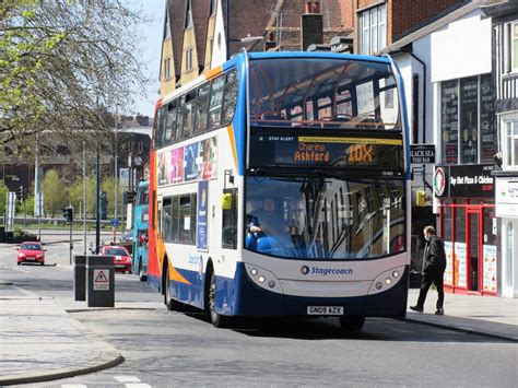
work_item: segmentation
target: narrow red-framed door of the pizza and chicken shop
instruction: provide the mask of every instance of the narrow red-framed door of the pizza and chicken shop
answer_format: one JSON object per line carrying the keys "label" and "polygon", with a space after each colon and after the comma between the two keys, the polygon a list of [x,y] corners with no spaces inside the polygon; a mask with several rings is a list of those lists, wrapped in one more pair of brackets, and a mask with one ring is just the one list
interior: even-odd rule
{"label": "narrow red-framed door of the pizza and chicken shop", "polygon": [[468,292],[482,290],[482,210],[468,207],[466,240],[468,242]]}

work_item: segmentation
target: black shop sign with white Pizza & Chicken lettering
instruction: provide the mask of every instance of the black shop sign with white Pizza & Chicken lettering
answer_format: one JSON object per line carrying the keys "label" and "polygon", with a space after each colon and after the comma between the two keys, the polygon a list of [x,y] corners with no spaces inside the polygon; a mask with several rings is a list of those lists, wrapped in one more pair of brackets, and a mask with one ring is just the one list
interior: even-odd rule
{"label": "black shop sign with white Pizza & Chicken lettering", "polygon": [[449,196],[455,198],[494,198],[493,165],[449,166]]}

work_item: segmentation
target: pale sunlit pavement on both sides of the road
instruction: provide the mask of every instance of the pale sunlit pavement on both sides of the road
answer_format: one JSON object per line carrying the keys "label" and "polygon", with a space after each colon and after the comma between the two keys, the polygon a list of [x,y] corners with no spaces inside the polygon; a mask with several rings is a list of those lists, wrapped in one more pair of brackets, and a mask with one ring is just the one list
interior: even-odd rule
{"label": "pale sunlit pavement on both sides of the road", "polygon": [[[16,289],[0,280],[0,290],[8,287]],[[117,349],[73,318],[74,310],[95,308],[72,301],[72,292],[71,299],[64,301],[17,291],[16,296],[3,291],[0,295],[0,386],[69,378],[123,362]],[[409,305],[415,304],[417,292],[410,290]],[[405,319],[518,342],[518,299],[446,294],[445,315],[436,316],[436,297],[431,290],[424,313],[409,310]],[[157,305],[115,302],[115,308],[160,308]]]}

